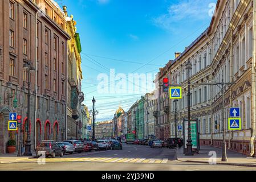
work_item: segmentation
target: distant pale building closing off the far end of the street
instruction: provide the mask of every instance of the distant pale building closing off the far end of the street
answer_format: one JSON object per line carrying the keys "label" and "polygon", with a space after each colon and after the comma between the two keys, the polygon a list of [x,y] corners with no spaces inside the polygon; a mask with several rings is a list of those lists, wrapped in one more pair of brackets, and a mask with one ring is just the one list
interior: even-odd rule
{"label": "distant pale building closing off the far end of the street", "polygon": [[113,121],[97,122],[95,125],[96,138],[111,138],[113,137]]}

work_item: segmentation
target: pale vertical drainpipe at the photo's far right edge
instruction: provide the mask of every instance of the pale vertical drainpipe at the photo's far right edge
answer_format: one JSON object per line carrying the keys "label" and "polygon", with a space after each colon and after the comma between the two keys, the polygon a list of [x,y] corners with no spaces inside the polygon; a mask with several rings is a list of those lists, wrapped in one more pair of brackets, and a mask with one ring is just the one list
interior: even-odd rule
{"label": "pale vertical drainpipe at the photo's far right edge", "polygon": [[252,137],[250,140],[250,156],[255,155],[255,150],[254,150],[254,139],[256,137],[256,75],[255,75],[255,65],[256,64],[256,0],[253,0],[253,66],[251,68],[251,76],[252,76],[252,84],[251,84],[251,96],[252,96],[252,113],[253,113],[253,118],[252,118]]}

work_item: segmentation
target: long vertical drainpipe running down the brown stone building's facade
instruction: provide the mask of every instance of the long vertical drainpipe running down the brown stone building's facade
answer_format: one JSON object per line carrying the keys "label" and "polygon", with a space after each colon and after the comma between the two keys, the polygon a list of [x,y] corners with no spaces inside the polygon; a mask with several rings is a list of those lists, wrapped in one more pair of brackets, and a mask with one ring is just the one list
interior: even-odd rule
{"label": "long vertical drainpipe running down the brown stone building's facade", "polygon": [[38,16],[38,13],[36,12],[35,13],[35,122],[34,122],[34,139],[35,139],[35,141],[34,141],[34,143],[35,143],[35,146],[34,146],[34,148],[36,148],[36,137],[37,137],[37,134],[36,134],[36,115],[37,115],[37,102],[38,102],[38,100],[37,100],[37,77],[38,77],[38,75],[37,75],[37,60],[38,60],[38,57],[37,57],[37,16]]}

